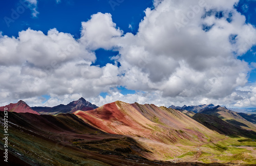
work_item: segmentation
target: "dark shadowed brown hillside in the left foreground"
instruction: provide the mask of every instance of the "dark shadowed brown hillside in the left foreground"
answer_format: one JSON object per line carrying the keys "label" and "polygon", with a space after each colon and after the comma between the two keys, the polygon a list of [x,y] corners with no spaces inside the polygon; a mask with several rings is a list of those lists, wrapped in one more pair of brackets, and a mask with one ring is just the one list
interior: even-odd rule
{"label": "dark shadowed brown hillside in the left foreground", "polygon": [[[9,160],[2,160],[1,165],[227,165],[183,160],[196,147],[184,149],[150,139],[105,133],[74,114],[9,112],[8,117]],[[0,112],[1,122],[3,118],[4,113]],[[0,152],[4,153],[3,139],[0,144]],[[166,158],[168,155],[180,158]],[[169,161],[155,160],[159,158]]]}

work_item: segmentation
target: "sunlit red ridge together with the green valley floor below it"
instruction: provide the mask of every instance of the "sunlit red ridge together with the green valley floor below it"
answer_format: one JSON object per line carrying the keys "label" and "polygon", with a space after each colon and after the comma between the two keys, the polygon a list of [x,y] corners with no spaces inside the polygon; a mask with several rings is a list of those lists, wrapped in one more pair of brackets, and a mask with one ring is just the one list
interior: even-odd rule
{"label": "sunlit red ridge together with the green valley floor below it", "polygon": [[211,165],[230,160],[234,163],[256,163],[254,140],[221,135],[172,108],[117,101],[74,114],[101,131],[136,137],[149,152],[144,155],[146,158]]}

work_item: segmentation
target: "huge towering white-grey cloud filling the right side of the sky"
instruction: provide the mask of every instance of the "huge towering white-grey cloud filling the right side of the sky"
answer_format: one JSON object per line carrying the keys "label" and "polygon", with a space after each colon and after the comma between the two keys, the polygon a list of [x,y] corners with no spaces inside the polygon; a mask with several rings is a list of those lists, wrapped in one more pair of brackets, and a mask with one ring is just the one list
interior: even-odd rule
{"label": "huge towering white-grey cloud filling the right side of the sky", "polygon": [[[215,99],[245,85],[248,64],[233,52],[237,56],[247,52],[255,44],[256,31],[233,9],[237,2],[161,1],[155,9],[146,9],[139,32],[125,34],[119,44],[123,84],[135,90],[142,85],[161,90],[165,97]],[[217,12],[226,14],[220,18]],[[175,22],[182,27],[177,29]],[[205,30],[204,25],[212,26]],[[232,34],[236,34],[233,42]],[[136,73],[143,73],[146,82]],[[135,80],[141,84],[132,87]]]}

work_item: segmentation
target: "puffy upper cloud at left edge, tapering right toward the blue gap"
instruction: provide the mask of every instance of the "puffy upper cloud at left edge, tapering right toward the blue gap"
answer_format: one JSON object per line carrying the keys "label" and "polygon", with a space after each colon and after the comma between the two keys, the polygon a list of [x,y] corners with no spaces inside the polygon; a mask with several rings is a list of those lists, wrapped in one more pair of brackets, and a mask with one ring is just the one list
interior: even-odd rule
{"label": "puffy upper cloud at left edge, tapering right toward the blue gap", "polygon": [[73,59],[94,61],[93,53],[84,49],[71,34],[51,29],[45,35],[41,31],[28,29],[19,32],[17,38],[0,36],[1,65],[31,65],[55,68]]}

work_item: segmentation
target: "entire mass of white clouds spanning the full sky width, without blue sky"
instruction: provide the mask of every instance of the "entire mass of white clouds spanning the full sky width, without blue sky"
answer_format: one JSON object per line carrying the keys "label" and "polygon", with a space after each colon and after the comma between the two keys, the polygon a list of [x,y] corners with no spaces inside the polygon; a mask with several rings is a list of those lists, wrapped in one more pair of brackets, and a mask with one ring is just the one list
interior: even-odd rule
{"label": "entire mass of white clouds spanning the full sky width, without blue sky", "polygon": [[[256,86],[247,84],[254,64],[238,59],[256,44],[256,29],[234,9],[238,2],[158,0],[135,35],[123,34],[108,13],[82,22],[77,40],[56,29],[1,35],[0,77],[8,80],[1,99],[40,105],[38,96],[49,94],[46,106],[81,96],[98,106],[116,100],[256,106]],[[113,59],[120,66],[93,66],[100,48],[119,51]],[[124,95],[117,86],[137,92]]]}

